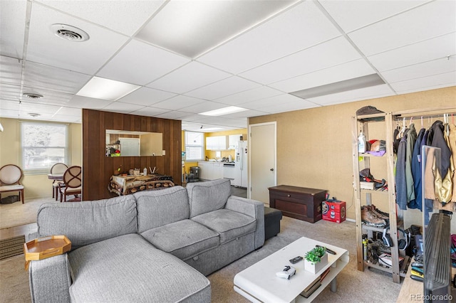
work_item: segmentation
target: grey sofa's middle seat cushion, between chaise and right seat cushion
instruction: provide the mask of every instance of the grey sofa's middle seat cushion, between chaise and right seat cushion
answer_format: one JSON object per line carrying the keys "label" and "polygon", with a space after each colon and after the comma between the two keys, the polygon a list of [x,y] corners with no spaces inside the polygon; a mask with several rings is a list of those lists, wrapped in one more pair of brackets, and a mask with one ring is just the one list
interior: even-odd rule
{"label": "grey sofa's middle seat cushion, between chaise and right seat cushion", "polygon": [[141,235],[156,248],[187,260],[219,245],[219,234],[192,220],[146,230]]}

